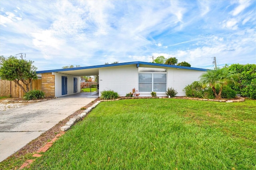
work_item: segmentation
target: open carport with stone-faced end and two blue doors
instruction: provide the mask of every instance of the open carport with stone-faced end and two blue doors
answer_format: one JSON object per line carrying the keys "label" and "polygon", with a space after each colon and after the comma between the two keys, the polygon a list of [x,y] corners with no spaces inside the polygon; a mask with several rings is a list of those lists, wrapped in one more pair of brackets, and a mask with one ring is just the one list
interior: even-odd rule
{"label": "open carport with stone-faced end and two blue doors", "polygon": [[[46,97],[62,97],[80,93],[80,77],[82,76],[96,76],[98,84],[100,67],[102,65],[37,71],[36,73],[42,75],[42,91],[46,93]],[[97,91],[97,93],[81,93],[80,96],[96,98],[99,95]]]}

